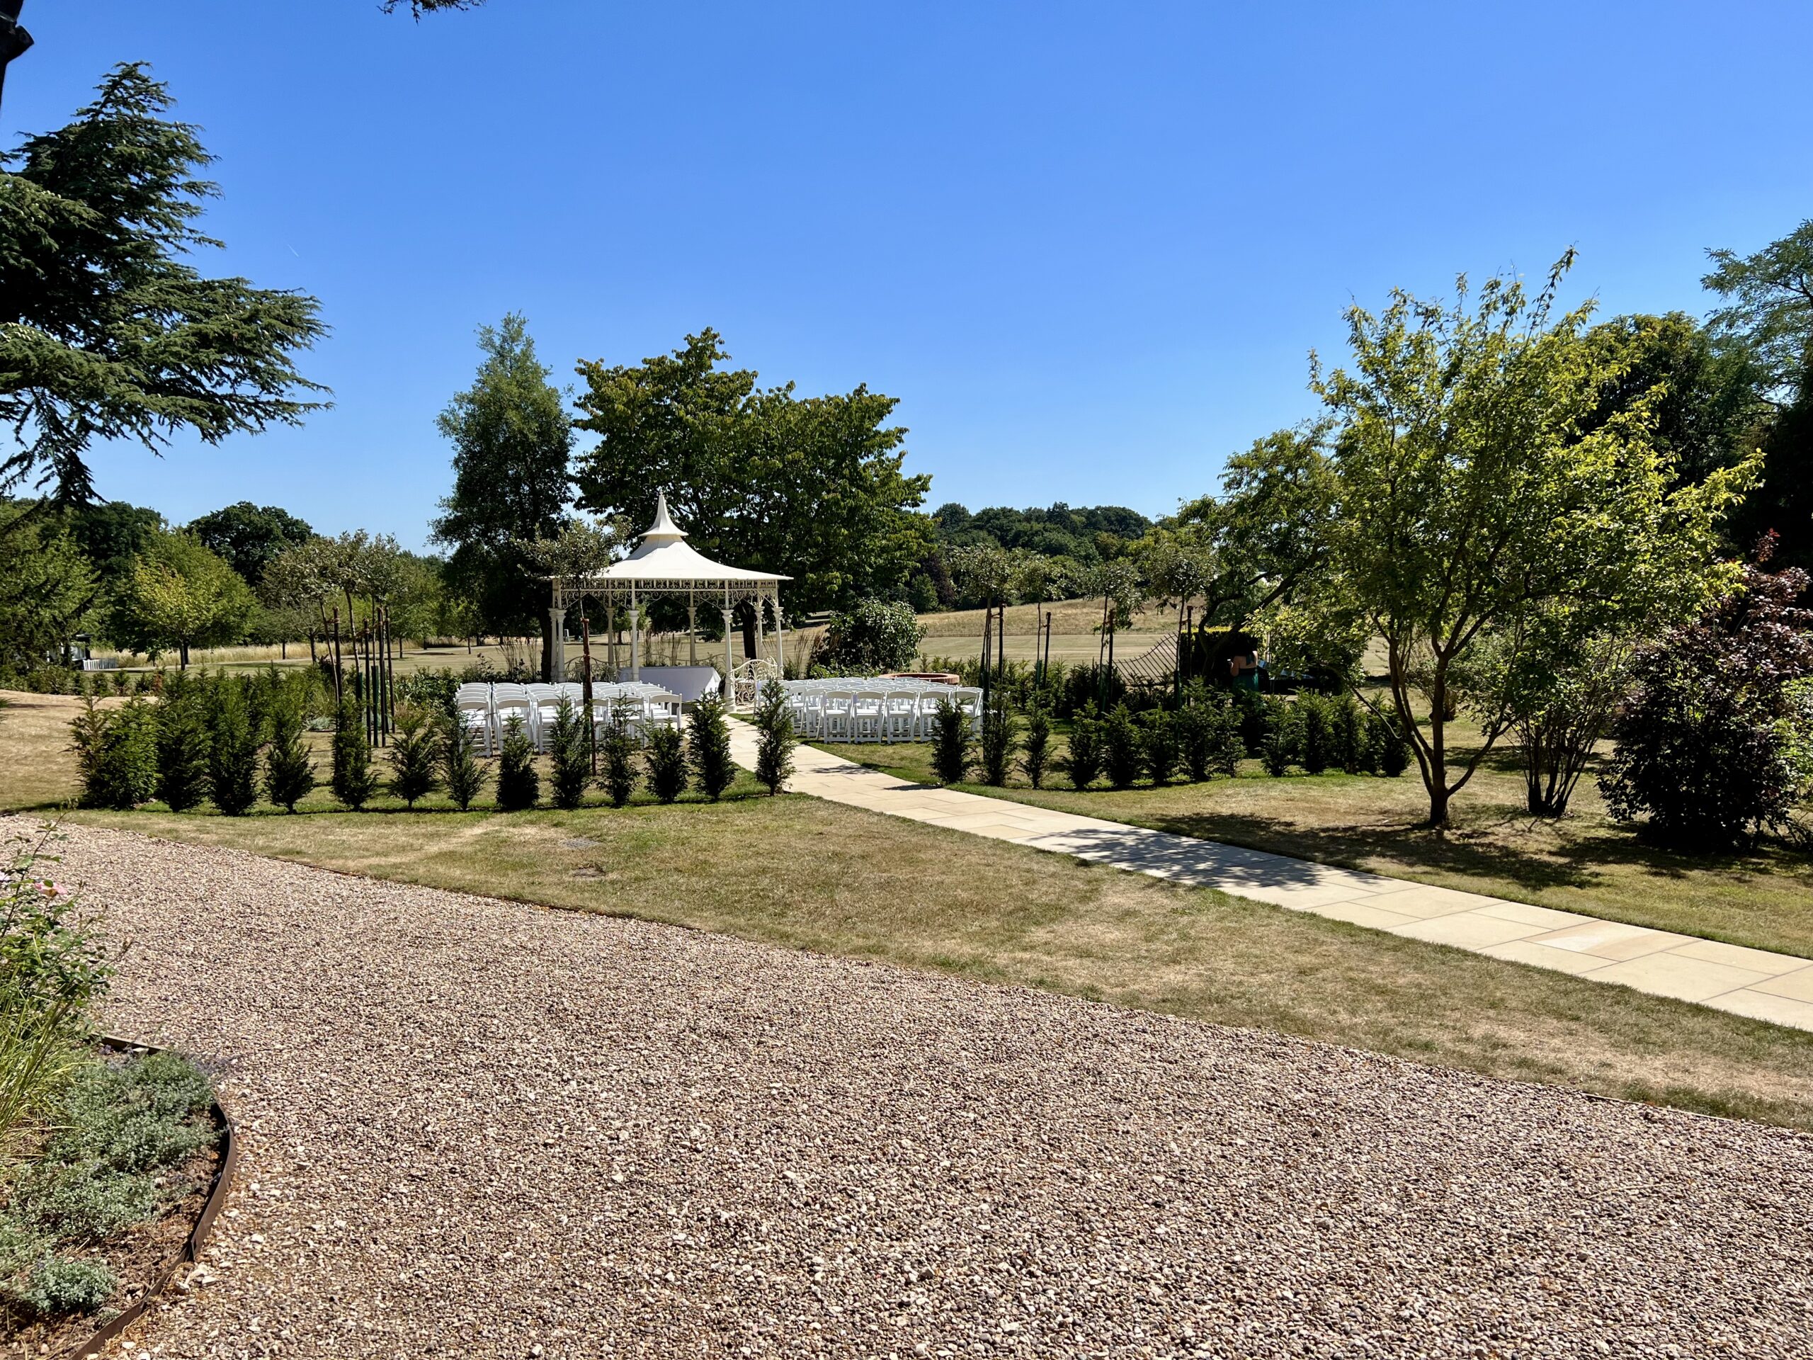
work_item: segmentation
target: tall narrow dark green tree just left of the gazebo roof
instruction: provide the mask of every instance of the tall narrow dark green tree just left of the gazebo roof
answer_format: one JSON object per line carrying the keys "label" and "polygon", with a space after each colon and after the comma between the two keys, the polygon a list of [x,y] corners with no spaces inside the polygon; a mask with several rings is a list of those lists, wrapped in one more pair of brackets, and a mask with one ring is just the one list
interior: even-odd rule
{"label": "tall narrow dark green tree just left of the gazebo roof", "polygon": [[453,442],[453,493],[433,524],[448,544],[446,582],[470,597],[490,633],[542,633],[542,673],[553,669],[549,591],[522,544],[555,537],[571,499],[573,424],[528,323],[515,312],[479,328],[484,361],[473,384],[441,413]]}

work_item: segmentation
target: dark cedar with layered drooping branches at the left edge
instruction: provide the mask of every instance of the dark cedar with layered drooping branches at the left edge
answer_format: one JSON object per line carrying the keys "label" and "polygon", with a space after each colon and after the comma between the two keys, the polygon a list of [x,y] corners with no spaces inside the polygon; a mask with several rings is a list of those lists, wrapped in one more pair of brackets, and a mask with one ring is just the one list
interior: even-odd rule
{"label": "dark cedar with layered drooping branches at the left edge", "polygon": [[219,245],[196,230],[218,189],[169,107],[143,65],[120,65],[76,121],[4,158],[0,421],[18,448],[0,490],[34,479],[85,502],[96,439],[156,450],[187,428],[219,442],[315,406],[294,364],[323,334],[315,299],[190,263]]}

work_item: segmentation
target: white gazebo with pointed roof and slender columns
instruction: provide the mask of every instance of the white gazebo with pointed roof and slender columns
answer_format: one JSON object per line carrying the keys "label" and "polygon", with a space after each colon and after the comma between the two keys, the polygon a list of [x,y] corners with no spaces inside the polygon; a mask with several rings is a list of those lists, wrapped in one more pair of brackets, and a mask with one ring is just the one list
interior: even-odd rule
{"label": "white gazebo with pointed roof and slender columns", "polygon": [[771,571],[749,571],[745,568],[713,562],[703,553],[691,548],[685,529],[673,522],[667,513],[667,493],[660,491],[654,500],[654,522],[642,535],[636,551],[622,562],[613,562],[604,571],[587,577],[555,577],[553,606],[548,611],[549,627],[555,638],[555,673],[566,675],[566,611],[582,595],[606,602],[611,609],[629,615],[629,676],[642,678],[642,602],[654,595],[685,597],[687,629],[693,633],[693,662],[698,662],[698,607],[716,607],[723,611],[723,676],[725,695],[736,693],[736,667],[731,660],[731,636],[736,633],[736,606],[751,600],[756,607],[756,627],[765,636],[767,613],[774,609],[774,658],[776,675],[787,667],[787,626],[781,620],[781,582],[792,577],[776,577]]}

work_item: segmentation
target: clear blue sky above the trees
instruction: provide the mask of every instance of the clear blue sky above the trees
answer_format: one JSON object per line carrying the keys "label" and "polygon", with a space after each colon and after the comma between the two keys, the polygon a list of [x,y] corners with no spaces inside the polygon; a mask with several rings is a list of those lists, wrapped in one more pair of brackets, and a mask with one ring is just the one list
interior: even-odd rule
{"label": "clear blue sky above the trees", "polygon": [[1704,248],[1813,216],[1813,5],[27,0],[0,132],[149,60],[225,196],[207,261],[317,296],[301,430],[96,457],[422,542],[473,328],[573,361],[702,326],[899,397],[932,504],[1164,513],[1313,412],[1342,308],[1456,272],[1704,312]]}

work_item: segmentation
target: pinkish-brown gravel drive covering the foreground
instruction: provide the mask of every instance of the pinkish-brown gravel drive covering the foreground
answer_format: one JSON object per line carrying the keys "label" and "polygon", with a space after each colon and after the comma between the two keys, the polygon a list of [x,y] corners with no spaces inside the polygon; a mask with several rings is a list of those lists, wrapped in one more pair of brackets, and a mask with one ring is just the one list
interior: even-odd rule
{"label": "pinkish-brown gravel drive covering the foreground", "polygon": [[73,829],[248,1139],[167,1356],[1802,1356],[1813,1141]]}

